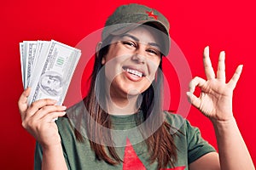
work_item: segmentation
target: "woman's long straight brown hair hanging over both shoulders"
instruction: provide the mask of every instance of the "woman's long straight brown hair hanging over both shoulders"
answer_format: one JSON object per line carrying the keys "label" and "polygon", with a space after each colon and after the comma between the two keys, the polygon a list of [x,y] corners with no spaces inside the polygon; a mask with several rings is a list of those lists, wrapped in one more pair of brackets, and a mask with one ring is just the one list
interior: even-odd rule
{"label": "woman's long straight brown hair hanging over both shoulders", "polygon": [[[104,99],[102,96],[106,96],[104,87],[105,77],[104,74],[99,74],[99,72],[103,66],[102,58],[108,54],[109,44],[112,39],[113,37],[109,36],[103,40],[102,48],[96,53],[93,72],[90,76],[90,90],[88,95],[84,98],[84,105],[89,114],[81,113],[81,115],[83,115],[87,122],[85,125],[86,135],[88,139],[93,139],[90,140],[90,147],[95,151],[96,158],[106,161],[111,165],[116,165],[122,162],[122,159],[114,149],[112,134],[102,128],[111,128],[111,119],[96,99],[96,95],[101,96],[101,99]],[[140,128],[143,136],[150,134],[148,138],[145,138],[145,143],[148,145],[148,153],[150,155],[149,161],[150,163],[157,161],[158,169],[167,167],[168,165],[174,167],[174,163],[177,161],[177,147],[173,139],[173,135],[175,134],[170,133],[172,127],[169,123],[165,122],[165,116],[162,111],[162,86],[161,59],[155,80],[142,94],[143,99],[140,109],[143,111],[143,121],[137,118],[137,124],[145,122],[143,123],[143,127]],[[104,104],[106,102],[102,103]],[[160,124],[157,130],[152,129],[152,125],[155,123]],[[84,139],[78,129],[75,129],[75,134],[76,138],[80,142],[83,142]],[[108,145],[104,145],[107,143]]]}

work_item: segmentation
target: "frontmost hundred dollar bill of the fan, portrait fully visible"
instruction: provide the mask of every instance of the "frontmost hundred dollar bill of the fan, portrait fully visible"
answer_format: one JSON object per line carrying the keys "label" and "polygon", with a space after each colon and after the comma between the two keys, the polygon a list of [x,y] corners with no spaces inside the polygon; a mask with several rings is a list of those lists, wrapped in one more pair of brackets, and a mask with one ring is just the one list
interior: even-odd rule
{"label": "frontmost hundred dollar bill of the fan, portrait fully visible", "polygon": [[36,52],[38,56],[29,84],[32,91],[28,104],[31,105],[38,99],[55,99],[56,105],[62,105],[81,51],[55,40],[49,42],[48,48],[47,45],[43,46],[44,42],[41,52]]}

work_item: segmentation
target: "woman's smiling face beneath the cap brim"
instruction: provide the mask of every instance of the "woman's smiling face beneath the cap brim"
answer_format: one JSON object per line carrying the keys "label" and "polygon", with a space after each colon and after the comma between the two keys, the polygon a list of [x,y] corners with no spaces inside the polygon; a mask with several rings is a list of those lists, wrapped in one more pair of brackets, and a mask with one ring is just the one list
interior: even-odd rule
{"label": "woman's smiling face beneath the cap brim", "polygon": [[[149,26],[138,26],[114,37],[102,59],[112,97],[143,93],[160,65],[160,37]],[[108,90],[108,89],[107,89]]]}

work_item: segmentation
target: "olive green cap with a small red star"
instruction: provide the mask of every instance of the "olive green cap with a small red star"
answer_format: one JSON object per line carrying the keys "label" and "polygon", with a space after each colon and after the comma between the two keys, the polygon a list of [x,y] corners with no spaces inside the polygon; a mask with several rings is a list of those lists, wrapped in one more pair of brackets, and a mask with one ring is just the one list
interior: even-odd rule
{"label": "olive green cap with a small red star", "polygon": [[146,23],[152,23],[154,27],[165,34],[165,44],[161,49],[161,53],[166,56],[169,53],[171,43],[168,20],[154,8],[148,8],[137,3],[122,5],[116,8],[105,23],[102,31],[102,40],[109,35],[119,35]]}

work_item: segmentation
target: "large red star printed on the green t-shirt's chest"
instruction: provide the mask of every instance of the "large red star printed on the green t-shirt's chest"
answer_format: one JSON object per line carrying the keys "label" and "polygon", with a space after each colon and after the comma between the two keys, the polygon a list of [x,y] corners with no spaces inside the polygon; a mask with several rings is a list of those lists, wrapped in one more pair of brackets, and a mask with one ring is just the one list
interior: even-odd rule
{"label": "large red star printed on the green t-shirt's chest", "polygon": [[[143,162],[138,158],[136,151],[133,149],[130,140],[126,139],[125,156],[123,163],[123,170],[146,170]],[[184,170],[183,167],[166,168],[161,170]]]}

